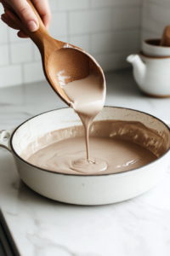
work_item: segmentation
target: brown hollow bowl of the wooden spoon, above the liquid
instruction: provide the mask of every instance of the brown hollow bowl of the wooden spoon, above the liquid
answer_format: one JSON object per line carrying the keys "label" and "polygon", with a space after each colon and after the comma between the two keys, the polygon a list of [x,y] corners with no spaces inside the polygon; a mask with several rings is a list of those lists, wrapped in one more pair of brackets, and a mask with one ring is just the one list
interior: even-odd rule
{"label": "brown hollow bowl of the wooden spoon, above the liquid", "polygon": [[[71,44],[64,44],[60,49],[55,50],[48,58],[48,79],[54,84],[60,96],[65,95],[63,86],[74,80],[87,78],[90,74],[98,76],[100,84],[105,86],[104,74],[90,55],[82,49],[78,49]],[[54,88],[54,90],[55,90]],[[65,95],[64,101],[71,105],[68,96]]]}

